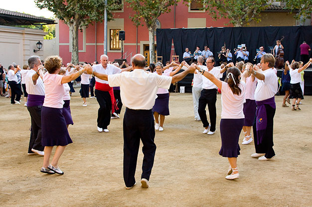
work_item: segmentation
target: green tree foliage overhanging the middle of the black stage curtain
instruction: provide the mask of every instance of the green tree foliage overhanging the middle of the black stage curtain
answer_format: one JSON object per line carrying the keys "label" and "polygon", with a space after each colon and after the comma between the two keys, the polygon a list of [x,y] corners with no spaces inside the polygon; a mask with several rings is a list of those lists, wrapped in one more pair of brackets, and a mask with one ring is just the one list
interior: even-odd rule
{"label": "green tree foliage overhanging the middle of the black stage curtain", "polygon": [[[191,0],[190,0],[191,1]],[[268,6],[267,0],[201,0],[212,18],[227,18],[234,26],[261,21],[260,12]]]}

